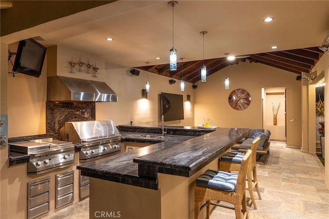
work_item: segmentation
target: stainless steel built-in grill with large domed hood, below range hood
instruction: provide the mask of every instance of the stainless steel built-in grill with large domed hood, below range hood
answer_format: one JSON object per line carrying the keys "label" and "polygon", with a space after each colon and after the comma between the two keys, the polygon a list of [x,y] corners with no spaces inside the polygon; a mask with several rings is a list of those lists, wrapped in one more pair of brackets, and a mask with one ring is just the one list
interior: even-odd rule
{"label": "stainless steel built-in grill with large domed hood, below range hood", "polygon": [[65,122],[60,136],[82,145],[80,160],[121,151],[121,135],[112,120]]}

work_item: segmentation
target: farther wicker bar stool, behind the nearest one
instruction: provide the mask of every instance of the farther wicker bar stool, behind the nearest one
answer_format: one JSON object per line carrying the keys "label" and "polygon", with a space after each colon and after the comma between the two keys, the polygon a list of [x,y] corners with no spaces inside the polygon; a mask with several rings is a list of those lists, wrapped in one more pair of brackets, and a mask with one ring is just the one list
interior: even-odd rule
{"label": "farther wicker bar stool, behind the nearest one", "polygon": [[[260,137],[255,138],[251,144],[251,157],[247,168],[247,180],[248,180],[248,188],[247,190],[250,193],[252,205],[254,209],[257,209],[255,197],[253,195],[253,189],[256,188],[259,199],[262,199],[261,192],[258,186],[257,179],[257,169],[256,169],[256,153],[257,147],[260,141]],[[241,165],[241,157],[244,154],[240,152],[229,152],[224,154],[220,159],[220,165],[218,170],[220,171],[239,171]]]}

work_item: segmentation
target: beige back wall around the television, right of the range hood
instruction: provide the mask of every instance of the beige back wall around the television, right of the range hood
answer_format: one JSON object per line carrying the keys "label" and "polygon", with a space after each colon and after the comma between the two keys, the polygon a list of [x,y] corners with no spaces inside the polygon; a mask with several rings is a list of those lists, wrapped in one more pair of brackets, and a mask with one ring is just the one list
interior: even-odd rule
{"label": "beige back wall around the television, right of the range hood", "polygon": [[[130,68],[107,69],[105,82],[117,93],[118,102],[96,103],[96,119],[112,119],[116,125],[160,124],[158,114],[158,95],[161,92],[183,95],[184,120],[168,121],[166,125],[194,124],[194,90],[191,83],[185,83],[185,91],[180,91],[180,83],[169,84],[168,77],[159,76],[140,70],[139,76],[130,73]],[[141,99],[141,90],[149,80],[150,92],[148,99]],[[187,95],[191,95],[191,102],[187,102]]]}

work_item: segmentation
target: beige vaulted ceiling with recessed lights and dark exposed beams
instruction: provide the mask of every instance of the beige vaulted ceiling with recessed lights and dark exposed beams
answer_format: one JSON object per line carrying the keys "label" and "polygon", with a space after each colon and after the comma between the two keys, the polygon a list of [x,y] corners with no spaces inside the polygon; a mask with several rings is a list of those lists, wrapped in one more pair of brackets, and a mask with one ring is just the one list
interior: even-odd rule
{"label": "beige vaulted ceiling with recessed lights and dark exposed beams", "polygon": [[[179,80],[183,75],[195,83],[203,48],[208,75],[244,61],[287,74],[309,72],[321,57],[317,47],[328,32],[329,1],[180,0],[174,8],[160,0],[57,2],[12,1],[12,7],[1,9],[1,32],[11,30],[1,35],[1,42],[34,38],[47,47],[62,45],[94,54],[105,60],[107,72],[136,67]],[[67,11],[71,8],[75,10]],[[268,16],[274,20],[263,22]],[[204,45],[200,31],[208,32]],[[114,40],[106,41],[107,37]],[[278,48],[271,49],[274,45]],[[176,71],[168,64],[173,46]],[[228,52],[245,58],[227,62]],[[145,62],[150,62],[149,68]]]}

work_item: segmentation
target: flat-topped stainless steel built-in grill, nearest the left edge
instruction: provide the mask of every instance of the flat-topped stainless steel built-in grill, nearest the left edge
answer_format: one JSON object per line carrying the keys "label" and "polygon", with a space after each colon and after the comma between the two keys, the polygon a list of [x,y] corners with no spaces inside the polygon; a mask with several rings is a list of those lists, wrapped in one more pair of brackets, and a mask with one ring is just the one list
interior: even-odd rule
{"label": "flat-topped stainless steel built-in grill, nearest the left edge", "polygon": [[74,163],[75,145],[72,142],[44,138],[9,143],[9,147],[10,151],[31,155],[28,174],[40,174]]}

